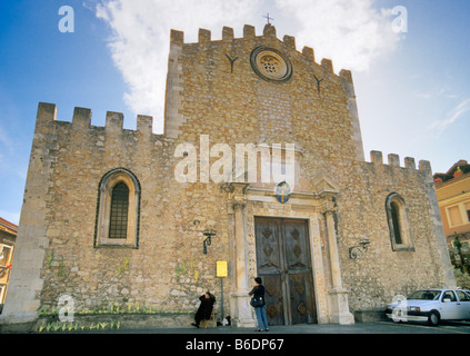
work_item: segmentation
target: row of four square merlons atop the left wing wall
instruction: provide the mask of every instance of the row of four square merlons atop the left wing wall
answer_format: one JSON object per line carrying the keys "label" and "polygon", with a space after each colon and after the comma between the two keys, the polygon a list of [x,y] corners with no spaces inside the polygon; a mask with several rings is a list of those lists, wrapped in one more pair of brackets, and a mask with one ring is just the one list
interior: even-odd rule
{"label": "row of four square merlons atop the left wing wall", "polygon": [[[51,129],[51,122],[67,122],[57,120],[57,107],[54,103],[39,102],[36,120],[36,132],[47,132]],[[107,111],[106,131],[119,132],[123,130],[124,116],[122,112]],[[71,122],[72,129],[84,129],[93,127],[91,125],[91,109],[76,107]],[[137,116],[137,132],[143,135],[153,135],[153,118],[151,116]]]}

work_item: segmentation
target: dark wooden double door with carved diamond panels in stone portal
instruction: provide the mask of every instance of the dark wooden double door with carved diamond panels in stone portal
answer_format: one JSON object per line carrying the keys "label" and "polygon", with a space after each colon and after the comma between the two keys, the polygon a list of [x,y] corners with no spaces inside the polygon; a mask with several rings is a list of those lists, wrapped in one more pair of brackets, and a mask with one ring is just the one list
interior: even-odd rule
{"label": "dark wooden double door with carved diamond panels in stone portal", "polygon": [[317,323],[307,221],[259,217],[254,225],[269,324]]}

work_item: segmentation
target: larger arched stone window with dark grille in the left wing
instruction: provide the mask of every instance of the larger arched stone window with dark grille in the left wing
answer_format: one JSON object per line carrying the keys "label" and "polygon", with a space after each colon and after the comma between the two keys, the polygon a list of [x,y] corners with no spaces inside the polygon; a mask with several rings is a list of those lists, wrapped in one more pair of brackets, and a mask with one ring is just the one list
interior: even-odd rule
{"label": "larger arched stone window with dark grille in the left wing", "polygon": [[139,246],[140,184],[124,168],[107,172],[99,184],[94,247]]}

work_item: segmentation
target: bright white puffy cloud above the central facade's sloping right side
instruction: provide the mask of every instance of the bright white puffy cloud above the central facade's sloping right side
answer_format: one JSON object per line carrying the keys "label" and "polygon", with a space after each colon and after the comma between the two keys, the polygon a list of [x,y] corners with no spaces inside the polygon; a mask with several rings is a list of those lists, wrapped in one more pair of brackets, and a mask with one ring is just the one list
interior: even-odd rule
{"label": "bright white puffy cloud above the central facade's sloping right side", "polygon": [[391,53],[400,36],[393,32],[391,9],[378,11],[373,0],[276,0],[300,24],[297,41],[313,47],[316,59],[333,60],[336,71],[369,69]]}

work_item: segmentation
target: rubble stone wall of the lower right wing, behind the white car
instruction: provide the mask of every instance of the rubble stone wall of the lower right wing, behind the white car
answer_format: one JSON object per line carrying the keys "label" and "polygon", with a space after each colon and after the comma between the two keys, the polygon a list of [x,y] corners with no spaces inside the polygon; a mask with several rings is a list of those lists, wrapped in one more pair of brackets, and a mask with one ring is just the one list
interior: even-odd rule
{"label": "rubble stone wall of the lower right wing, behind the white car", "polygon": [[[406,167],[397,165],[394,155],[389,165],[382,164],[381,152],[372,152],[371,158],[371,164],[359,164],[354,180],[348,175],[353,185],[342,189],[337,201],[342,271],[352,310],[380,309],[396,295],[454,284],[442,228],[427,191],[430,171],[417,170],[411,158],[406,158]],[[392,192],[400,194],[408,208],[411,250],[392,250],[386,214]],[[348,249],[364,238],[370,240],[368,251],[351,259]]]}

